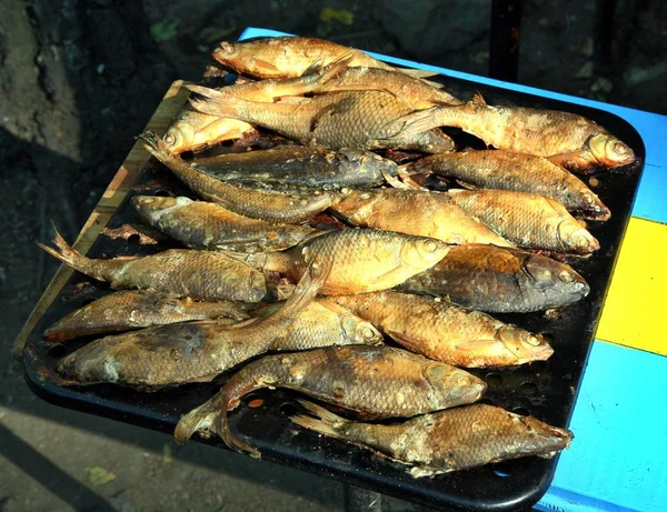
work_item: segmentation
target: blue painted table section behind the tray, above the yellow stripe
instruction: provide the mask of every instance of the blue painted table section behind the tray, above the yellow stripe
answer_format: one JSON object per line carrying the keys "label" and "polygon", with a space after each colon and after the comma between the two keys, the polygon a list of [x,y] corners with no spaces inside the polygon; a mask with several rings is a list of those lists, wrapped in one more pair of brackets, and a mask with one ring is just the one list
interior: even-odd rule
{"label": "blue painted table section behind the tray, above the yellow stripe", "polygon": [[[276,36],[286,34],[275,30],[248,28],[243,31],[240,39]],[[445,68],[437,68],[435,66],[427,66],[405,59],[397,59],[395,57],[386,57],[372,52],[368,53],[374,58],[394,64],[427,69],[430,71],[437,71],[446,77],[470,80],[501,89],[510,89],[512,91],[526,92],[528,94],[537,94],[555,100],[578,103],[585,107],[605,110],[625,119],[639,132],[644,139],[644,144],[646,145],[646,165],[641,177],[641,182],[639,183],[639,190],[637,192],[637,200],[635,202],[633,215],[667,223],[667,208],[665,205],[665,200],[667,199],[667,116],[659,116],[651,112],[645,112],[643,110],[628,109],[626,107],[618,107],[615,104],[603,103],[600,101],[561,94],[559,92],[546,91],[544,89],[537,89],[534,87],[502,82],[500,80],[478,77],[476,74],[464,73],[460,71],[452,71]]]}

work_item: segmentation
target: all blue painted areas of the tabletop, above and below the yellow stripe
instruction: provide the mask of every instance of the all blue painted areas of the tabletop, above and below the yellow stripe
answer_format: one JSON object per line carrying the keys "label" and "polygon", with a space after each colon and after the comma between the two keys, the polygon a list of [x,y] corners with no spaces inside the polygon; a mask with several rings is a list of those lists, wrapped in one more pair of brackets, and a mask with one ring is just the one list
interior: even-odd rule
{"label": "all blue painted areas of the tabletop, above and below the yellow stripe", "polygon": [[[249,28],[240,39],[285,36]],[[615,113],[646,145],[646,167],[633,214],[667,222],[667,117],[370,53],[387,62],[447,77],[569,101]],[[638,319],[639,320],[639,319]],[[667,509],[667,358],[596,341],[570,429],[576,439],[558,463],[545,511]]]}

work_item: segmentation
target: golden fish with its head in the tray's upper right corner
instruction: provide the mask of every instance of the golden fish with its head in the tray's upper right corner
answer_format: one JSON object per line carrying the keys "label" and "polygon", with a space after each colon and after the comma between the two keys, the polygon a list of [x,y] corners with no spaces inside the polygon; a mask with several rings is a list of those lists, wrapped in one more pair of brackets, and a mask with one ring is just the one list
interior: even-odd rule
{"label": "golden fish with its head in the tray's upper right corner", "polygon": [[404,135],[457,127],[488,145],[546,157],[575,170],[635,162],[633,150],[581,116],[525,107],[487,106],[481,96],[460,107],[436,107],[406,117]]}

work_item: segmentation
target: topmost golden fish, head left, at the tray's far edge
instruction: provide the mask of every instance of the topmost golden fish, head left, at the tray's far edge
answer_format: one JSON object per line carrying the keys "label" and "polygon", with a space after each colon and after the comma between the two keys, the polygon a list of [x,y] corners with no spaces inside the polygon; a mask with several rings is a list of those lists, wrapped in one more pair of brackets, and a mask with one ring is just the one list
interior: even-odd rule
{"label": "topmost golden fish, head left, at the tray's far edge", "polygon": [[[315,38],[279,37],[242,42],[222,42],[213,50],[221,64],[257,78],[300,77],[315,66],[327,66],[345,58],[348,66],[395,70],[361,50]],[[417,77],[436,73],[421,70],[400,70]]]}

